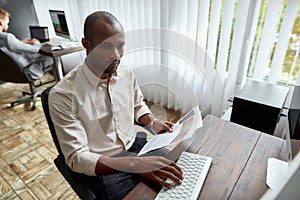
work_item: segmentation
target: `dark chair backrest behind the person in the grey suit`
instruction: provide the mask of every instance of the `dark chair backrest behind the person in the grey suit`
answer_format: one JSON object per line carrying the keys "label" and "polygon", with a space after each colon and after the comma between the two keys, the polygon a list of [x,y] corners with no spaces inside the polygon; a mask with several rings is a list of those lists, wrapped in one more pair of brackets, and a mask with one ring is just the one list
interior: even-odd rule
{"label": "dark chair backrest behind the person in the grey suit", "polygon": [[22,67],[9,55],[5,47],[0,48],[0,79],[13,83],[30,83]]}

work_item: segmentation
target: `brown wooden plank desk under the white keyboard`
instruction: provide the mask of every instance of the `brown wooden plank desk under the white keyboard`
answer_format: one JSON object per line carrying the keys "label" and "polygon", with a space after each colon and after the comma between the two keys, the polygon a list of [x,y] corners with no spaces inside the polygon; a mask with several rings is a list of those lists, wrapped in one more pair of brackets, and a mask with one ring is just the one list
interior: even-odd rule
{"label": "brown wooden plank desk under the white keyboard", "polygon": [[[168,158],[175,160],[185,150],[213,158],[198,199],[259,199],[268,189],[267,159],[286,160],[283,139],[210,115]],[[158,184],[143,180],[125,199],[154,199],[159,189]]]}

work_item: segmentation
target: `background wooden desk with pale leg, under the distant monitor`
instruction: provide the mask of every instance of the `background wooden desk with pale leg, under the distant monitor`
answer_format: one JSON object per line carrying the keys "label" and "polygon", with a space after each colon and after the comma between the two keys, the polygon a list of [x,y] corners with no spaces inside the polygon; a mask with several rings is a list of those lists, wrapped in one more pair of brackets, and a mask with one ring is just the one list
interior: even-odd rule
{"label": "background wooden desk with pale leg, under the distant monitor", "polygon": [[55,51],[51,51],[49,46],[42,46],[42,48],[40,49],[40,53],[47,56],[51,56],[53,58],[53,62],[54,62],[53,73],[55,79],[57,81],[60,81],[63,78],[63,67],[62,67],[60,56],[74,53],[81,50],[84,50],[83,46],[69,47],[66,49],[55,50]]}

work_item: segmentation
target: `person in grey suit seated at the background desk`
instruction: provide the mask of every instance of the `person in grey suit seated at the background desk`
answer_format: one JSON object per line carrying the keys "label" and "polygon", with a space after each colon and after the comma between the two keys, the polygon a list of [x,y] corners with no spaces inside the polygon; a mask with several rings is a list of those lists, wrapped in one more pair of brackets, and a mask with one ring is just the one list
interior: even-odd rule
{"label": "person in grey suit seated at the background desk", "polygon": [[21,41],[12,33],[8,33],[9,17],[10,13],[0,8],[0,48],[6,48],[10,56],[24,68],[35,61],[40,61],[41,65],[33,64],[25,72],[28,78],[36,80],[42,77],[45,71],[52,69],[53,59],[38,53],[41,48],[38,39],[26,38]]}

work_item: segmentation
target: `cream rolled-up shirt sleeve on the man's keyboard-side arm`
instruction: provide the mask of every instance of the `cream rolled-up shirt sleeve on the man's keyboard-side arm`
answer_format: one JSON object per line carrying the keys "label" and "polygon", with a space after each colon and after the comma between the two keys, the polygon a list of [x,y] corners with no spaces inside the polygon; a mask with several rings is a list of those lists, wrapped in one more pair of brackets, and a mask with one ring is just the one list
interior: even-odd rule
{"label": "cream rolled-up shirt sleeve on the man's keyboard-side arm", "polygon": [[49,94],[51,118],[67,165],[75,172],[92,176],[101,155],[89,150],[85,128],[72,100],[72,95],[53,88]]}

